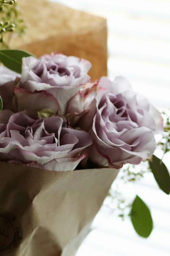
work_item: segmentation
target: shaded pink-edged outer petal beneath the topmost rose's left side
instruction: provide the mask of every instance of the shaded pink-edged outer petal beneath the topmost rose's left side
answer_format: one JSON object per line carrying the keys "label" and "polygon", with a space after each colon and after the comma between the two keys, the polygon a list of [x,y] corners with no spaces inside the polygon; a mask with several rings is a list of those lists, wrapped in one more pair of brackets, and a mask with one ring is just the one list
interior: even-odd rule
{"label": "shaded pink-edged outer petal beneath the topmost rose's left side", "polygon": [[50,109],[56,113],[59,110],[58,101],[47,91],[35,91],[32,93],[30,91],[15,87],[14,94],[17,99],[18,111],[41,111],[42,109]]}

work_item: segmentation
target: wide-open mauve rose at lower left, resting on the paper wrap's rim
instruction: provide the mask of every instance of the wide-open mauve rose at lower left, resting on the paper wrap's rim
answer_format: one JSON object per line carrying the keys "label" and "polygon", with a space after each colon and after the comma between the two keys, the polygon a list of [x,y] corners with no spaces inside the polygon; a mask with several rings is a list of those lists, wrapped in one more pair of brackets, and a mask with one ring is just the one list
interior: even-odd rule
{"label": "wide-open mauve rose at lower left, resting on the paper wrap's rim", "polygon": [[67,128],[60,116],[39,118],[31,111],[0,112],[0,161],[72,171],[91,144],[87,132]]}

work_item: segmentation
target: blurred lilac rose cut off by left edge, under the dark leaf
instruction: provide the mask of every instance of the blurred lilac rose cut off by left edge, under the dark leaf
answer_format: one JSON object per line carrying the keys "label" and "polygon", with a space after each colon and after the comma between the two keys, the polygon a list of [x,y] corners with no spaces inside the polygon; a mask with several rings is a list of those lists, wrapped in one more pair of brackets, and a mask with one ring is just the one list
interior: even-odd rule
{"label": "blurred lilac rose cut off by left edge, under the dark leaf", "polygon": [[21,77],[21,75],[0,65],[0,95],[3,101],[3,109],[11,108],[14,81],[17,77]]}

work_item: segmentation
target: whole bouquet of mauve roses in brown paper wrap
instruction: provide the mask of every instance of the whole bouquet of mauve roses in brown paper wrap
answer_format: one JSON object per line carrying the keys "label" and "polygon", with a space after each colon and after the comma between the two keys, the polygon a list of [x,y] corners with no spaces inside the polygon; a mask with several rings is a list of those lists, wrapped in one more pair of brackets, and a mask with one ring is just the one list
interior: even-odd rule
{"label": "whole bouquet of mauve roses in brown paper wrap", "polygon": [[0,255],[74,255],[119,169],[153,154],[161,115],[123,77],[91,81],[87,60],[1,52]]}

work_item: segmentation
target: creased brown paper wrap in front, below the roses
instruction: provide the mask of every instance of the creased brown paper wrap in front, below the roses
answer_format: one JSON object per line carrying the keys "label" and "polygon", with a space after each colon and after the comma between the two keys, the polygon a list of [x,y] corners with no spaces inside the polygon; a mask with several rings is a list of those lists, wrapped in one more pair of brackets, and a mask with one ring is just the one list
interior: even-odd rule
{"label": "creased brown paper wrap in front, below the roses", "polygon": [[0,255],[75,255],[118,171],[0,162]]}

